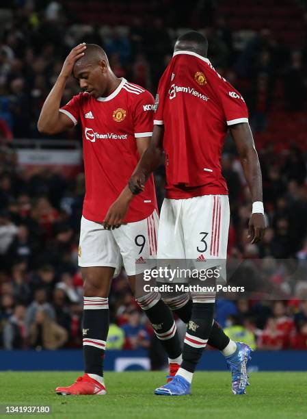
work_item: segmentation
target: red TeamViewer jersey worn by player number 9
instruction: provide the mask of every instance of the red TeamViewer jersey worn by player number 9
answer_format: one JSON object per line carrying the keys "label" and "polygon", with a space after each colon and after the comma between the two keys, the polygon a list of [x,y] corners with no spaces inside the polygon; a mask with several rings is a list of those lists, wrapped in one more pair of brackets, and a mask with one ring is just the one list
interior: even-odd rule
{"label": "red TeamViewer jersey worn by player number 9", "polygon": [[[139,153],[135,138],[152,135],[154,99],[147,91],[122,79],[108,97],[95,99],[83,92],[73,97],[60,112],[81,122],[85,168],[83,216],[104,220],[129,181]],[[145,190],[129,205],[124,222],[143,220],[157,208],[153,177]]]}

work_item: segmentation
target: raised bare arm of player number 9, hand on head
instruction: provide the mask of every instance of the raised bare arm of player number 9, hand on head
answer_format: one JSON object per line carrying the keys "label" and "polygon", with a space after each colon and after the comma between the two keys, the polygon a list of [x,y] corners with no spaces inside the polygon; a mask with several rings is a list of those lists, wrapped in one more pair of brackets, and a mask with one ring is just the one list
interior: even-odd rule
{"label": "raised bare arm of player number 9, hand on head", "polygon": [[58,134],[74,126],[72,120],[64,113],[59,112],[62,96],[68,77],[72,74],[75,62],[84,55],[85,44],[79,44],[73,48],[64,61],[62,71],[55,81],[51,92],[49,93],[38,119],[38,131],[45,134]]}

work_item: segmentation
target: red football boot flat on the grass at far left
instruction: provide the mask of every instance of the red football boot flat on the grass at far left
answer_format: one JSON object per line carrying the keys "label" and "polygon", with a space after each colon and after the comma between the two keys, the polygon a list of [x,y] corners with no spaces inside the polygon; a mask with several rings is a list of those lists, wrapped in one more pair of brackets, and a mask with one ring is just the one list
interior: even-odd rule
{"label": "red football boot flat on the grass at far left", "polygon": [[88,374],[84,374],[82,377],[77,378],[77,381],[68,387],[57,387],[55,392],[62,396],[76,396],[77,394],[102,396],[103,394],[107,394],[105,386],[89,377]]}

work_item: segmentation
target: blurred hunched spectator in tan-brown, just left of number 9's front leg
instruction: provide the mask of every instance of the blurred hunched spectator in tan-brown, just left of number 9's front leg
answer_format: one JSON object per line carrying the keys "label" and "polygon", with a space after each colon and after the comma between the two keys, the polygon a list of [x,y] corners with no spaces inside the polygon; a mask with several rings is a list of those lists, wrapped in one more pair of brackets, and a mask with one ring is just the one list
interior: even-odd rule
{"label": "blurred hunched spectator in tan-brown, just left of number 9's front leg", "polygon": [[43,309],[39,309],[29,326],[31,348],[55,350],[64,346],[67,340],[68,333],[64,327],[57,325]]}

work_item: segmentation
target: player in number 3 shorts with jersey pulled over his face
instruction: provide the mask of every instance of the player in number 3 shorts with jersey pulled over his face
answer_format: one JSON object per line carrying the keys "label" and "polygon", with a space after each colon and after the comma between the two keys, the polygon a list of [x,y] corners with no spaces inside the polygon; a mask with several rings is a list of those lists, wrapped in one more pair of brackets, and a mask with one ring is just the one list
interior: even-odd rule
{"label": "player in number 3 shorts with jersey pulled over his face", "polygon": [[[261,240],[265,231],[261,170],[248,109],[241,94],[206,58],[207,49],[206,38],[198,32],[178,38],[174,56],[159,82],[152,141],[129,181],[131,196],[120,195],[105,218],[105,225],[120,225],[133,194],[144,190],[164,150],[166,198],[161,209],[157,258],[190,259],[198,266],[203,263],[203,269],[219,266],[227,255],[230,213],[221,157],[228,129],[252,195],[251,242]],[[183,363],[176,377],[158,388],[156,394],[190,393],[193,372],[211,335],[215,293],[192,294],[192,299]],[[234,394],[244,394],[248,385],[246,363],[250,351],[237,342],[224,352]]]}

